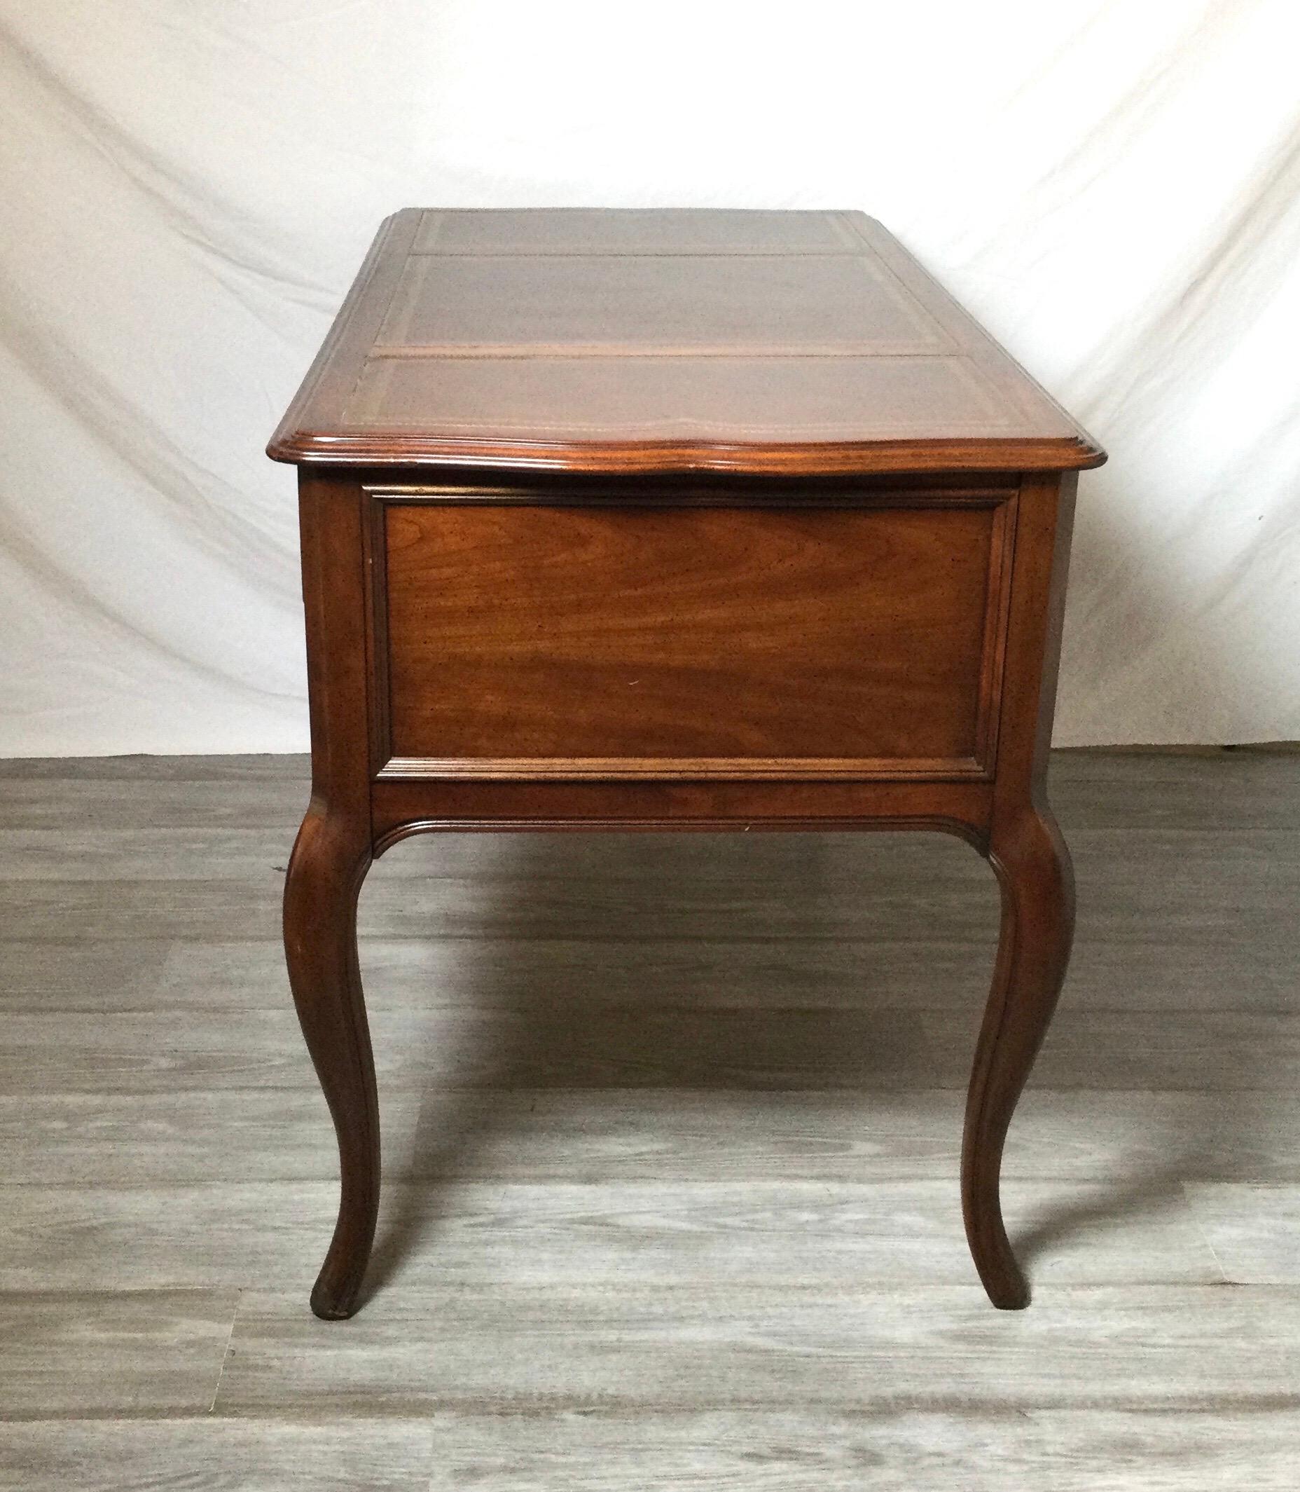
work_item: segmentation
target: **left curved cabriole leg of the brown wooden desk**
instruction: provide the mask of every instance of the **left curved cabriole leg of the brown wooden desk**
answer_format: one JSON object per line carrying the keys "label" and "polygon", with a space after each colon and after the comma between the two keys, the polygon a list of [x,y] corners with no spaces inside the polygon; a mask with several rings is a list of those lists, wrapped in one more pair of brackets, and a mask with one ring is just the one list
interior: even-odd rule
{"label": "left curved cabriole leg of the brown wooden desk", "polygon": [[285,958],[294,1004],[338,1134],[341,1197],[312,1310],[350,1316],[379,1212],[379,1098],[356,961],[356,898],[370,844],[315,804],[285,883]]}

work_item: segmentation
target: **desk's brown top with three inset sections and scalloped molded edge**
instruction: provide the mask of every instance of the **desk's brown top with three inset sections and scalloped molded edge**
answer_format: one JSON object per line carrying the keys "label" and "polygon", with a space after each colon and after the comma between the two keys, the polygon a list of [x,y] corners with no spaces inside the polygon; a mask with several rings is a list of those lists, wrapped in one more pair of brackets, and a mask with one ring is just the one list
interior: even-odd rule
{"label": "desk's brown top with three inset sections and scalloped molded edge", "polygon": [[277,461],[1066,470],[1105,454],[857,212],[407,209]]}

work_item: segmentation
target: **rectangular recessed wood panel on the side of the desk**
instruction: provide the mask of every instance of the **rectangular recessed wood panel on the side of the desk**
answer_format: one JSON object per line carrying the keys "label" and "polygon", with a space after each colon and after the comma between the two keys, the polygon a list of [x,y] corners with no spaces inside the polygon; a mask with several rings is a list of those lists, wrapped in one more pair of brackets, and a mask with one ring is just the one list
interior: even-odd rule
{"label": "rectangular recessed wood panel on the side of the desk", "polygon": [[379,501],[380,765],[979,776],[1006,510]]}

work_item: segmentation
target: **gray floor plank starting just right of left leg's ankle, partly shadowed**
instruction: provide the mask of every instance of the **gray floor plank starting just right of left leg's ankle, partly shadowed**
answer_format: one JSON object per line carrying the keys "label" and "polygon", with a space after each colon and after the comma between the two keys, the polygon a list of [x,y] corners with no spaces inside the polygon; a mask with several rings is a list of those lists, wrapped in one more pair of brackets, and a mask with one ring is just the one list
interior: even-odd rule
{"label": "gray floor plank starting just right of left leg's ankle, partly shadowed", "polygon": [[[953,1089],[431,1089],[419,1176],[501,1180],[908,1180],[954,1177],[965,1094]],[[1300,1182],[1291,1092],[1097,1092],[1032,1086],[1003,1174]]]}

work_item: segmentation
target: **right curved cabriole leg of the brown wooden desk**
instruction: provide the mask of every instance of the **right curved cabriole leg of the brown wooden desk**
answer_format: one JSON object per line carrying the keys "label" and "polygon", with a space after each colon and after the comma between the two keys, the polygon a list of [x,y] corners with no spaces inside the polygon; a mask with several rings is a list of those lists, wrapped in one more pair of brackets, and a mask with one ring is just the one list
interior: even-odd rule
{"label": "right curved cabriole leg of the brown wooden desk", "polygon": [[962,1210],[988,1298],[1002,1310],[1020,1310],[1029,1304],[1029,1286],[1002,1223],[1002,1144],[1064,979],[1075,882],[1047,807],[1026,807],[996,828],[988,859],[1002,888],[1002,934],[966,1101]]}

